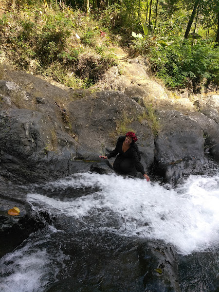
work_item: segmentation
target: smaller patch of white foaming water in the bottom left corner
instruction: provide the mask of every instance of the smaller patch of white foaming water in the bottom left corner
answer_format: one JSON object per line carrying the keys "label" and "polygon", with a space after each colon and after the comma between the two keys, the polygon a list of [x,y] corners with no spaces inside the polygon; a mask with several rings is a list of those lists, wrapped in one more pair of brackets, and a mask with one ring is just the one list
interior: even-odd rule
{"label": "smaller patch of white foaming water in the bottom left corner", "polygon": [[[30,236],[19,249],[0,259],[0,292],[42,292],[64,268],[63,255],[54,248],[53,227]],[[52,247],[52,248],[51,248]]]}

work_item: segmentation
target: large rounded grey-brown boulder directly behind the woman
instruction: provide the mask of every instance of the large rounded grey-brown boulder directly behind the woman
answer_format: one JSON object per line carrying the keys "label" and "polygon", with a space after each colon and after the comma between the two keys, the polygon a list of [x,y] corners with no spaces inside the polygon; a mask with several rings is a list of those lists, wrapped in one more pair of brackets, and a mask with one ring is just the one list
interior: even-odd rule
{"label": "large rounded grey-brown boulder directly behind the woman", "polygon": [[[129,130],[136,132],[146,170],[154,159],[154,135],[146,119],[139,122],[145,108],[120,91],[99,91],[91,97],[73,101],[69,105],[72,128],[78,143],[87,151],[105,154],[115,147],[119,135]],[[119,123],[126,120],[125,132],[119,132]],[[78,149],[80,153],[80,149]],[[87,153],[82,153],[83,158]]]}

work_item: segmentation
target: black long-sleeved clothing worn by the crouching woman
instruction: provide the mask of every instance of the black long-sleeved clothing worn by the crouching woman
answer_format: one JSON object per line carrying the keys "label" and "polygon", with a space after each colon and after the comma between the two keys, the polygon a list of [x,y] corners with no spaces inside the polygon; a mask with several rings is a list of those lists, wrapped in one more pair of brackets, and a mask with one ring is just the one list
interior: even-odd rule
{"label": "black long-sleeved clothing worn by the crouching woman", "polygon": [[144,175],[146,172],[139,161],[136,146],[131,145],[126,152],[123,152],[122,146],[125,138],[125,136],[119,137],[115,149],[110,151],[110,154],[107,155],[107,157],[114,157],[119,153],[113,164],[114,170],[119,173],[136,176],[137,170]]}

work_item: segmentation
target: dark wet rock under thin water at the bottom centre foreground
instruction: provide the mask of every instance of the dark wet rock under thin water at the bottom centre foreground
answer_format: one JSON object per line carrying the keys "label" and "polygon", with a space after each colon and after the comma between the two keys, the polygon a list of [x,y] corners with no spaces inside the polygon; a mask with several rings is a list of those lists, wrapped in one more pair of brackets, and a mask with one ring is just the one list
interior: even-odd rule
{"label": "dark wet rock under thin water at the bottom centre foreground", "polygon": [[74,262],[68,270],[71,278],[60,279],[45,292],[70,292],[73,285],[74,291],[84,292],[180,292],[177,254],[162,242],[87,230],[75,234],[62,252]]}

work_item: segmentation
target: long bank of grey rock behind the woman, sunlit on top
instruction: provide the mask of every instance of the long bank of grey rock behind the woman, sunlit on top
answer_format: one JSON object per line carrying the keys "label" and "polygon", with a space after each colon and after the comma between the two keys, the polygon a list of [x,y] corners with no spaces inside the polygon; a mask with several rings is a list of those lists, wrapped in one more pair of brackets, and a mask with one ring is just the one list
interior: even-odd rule
{"label": "long bank of grey rock behind the woman, sunlit on top", "polygon": [[[0,81],[0,176],[25,183],[78,171],[111,172],[109,162],[98,156],[112,150],[118,136],[128,130],[137,133],[145,170],[163,177],[164,182],[175,184],[183,174],[204,173],[208,167],[206,150],[219,161],[218,95],[197,99],[195,107],[201,112],[194,111],[187,97],[181,98],[182,102],[176,100],[182,109],[187,107],[183,114],[183,110],[172,109],[173,103],[160,85],[143,78],[144,64],[134,59],[126,66],[132,81],[123,88],[125,93],[107,90],[91,94],[58,88],[55,92],[63,100],[73,97],[67,115],[61,110],[62,102],[57,107],[52,98],[55,86],[48,86],[49,92],[34,100],[34,91],[26,94],[16,83]],[[39,87],[38,78],[36,84]],[[20,103],[10,97],[16,94],[26,109],[18,109]],[[155,105],[165,102],[164,109],[156,111],[160,124],[157,135],[146,115],[145,105],[151,96]],[[166,109],[167,104],[172,104],[171,110]]]}

